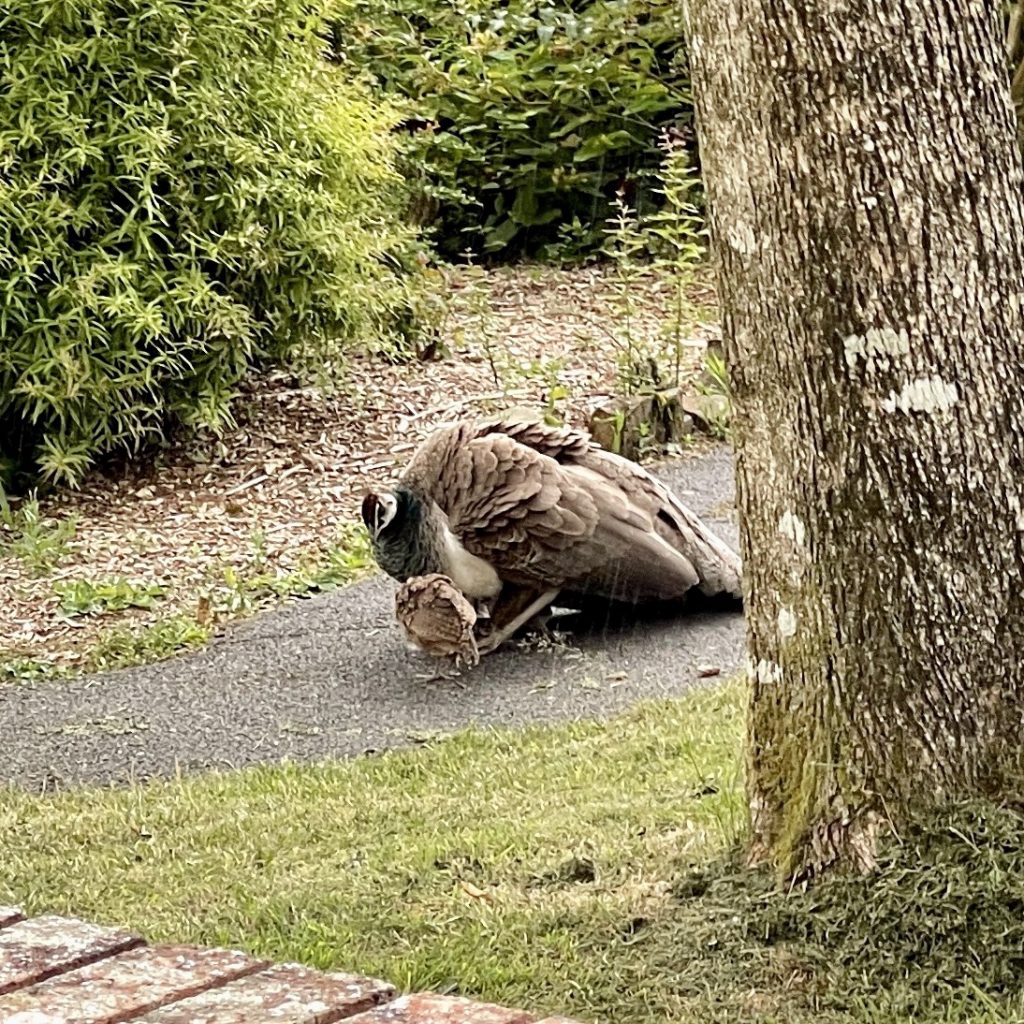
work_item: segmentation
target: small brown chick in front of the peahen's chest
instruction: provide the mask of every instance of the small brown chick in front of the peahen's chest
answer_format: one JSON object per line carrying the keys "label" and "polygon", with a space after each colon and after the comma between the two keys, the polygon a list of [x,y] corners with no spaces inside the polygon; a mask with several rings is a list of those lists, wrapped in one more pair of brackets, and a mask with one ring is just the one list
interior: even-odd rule
{"label": "small brown chick in front of the peahen's chest", "polygon": [[398,588],[394,611],[406,636],[418,650],[453,657],[456,666],[476,665],[476,610],[439,572],[413,577]]}

